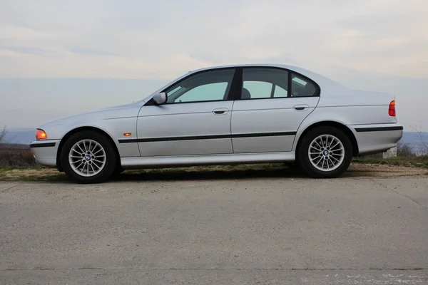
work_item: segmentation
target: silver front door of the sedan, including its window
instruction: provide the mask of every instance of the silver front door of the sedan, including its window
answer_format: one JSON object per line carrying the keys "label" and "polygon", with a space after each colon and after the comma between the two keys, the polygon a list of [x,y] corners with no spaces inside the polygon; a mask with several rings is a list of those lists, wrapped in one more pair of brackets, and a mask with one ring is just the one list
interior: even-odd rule
{"label": "silver front door of the sedan, including its window", "polygon": [[230,115],[235,68],[191,74],[150,100],[138,114],[141,156],[231,154]]}

